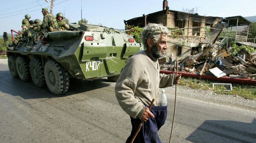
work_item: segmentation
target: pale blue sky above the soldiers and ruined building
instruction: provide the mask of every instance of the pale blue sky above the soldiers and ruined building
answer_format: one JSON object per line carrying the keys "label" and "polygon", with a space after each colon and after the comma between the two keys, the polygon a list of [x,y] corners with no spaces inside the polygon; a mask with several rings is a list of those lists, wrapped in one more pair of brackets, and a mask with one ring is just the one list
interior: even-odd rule
{"label": "pale blue sky above the soldiers and ruined building", "polygon": [[[50,1],[50,0],[49,0]],[[243,17],[256,15],[256,0],[168,0],[169,9],[182,11],[183,8],[197,8],[199,15]],[[4,31],[21,29],[25,14],[32,20],[43,20],[42,7],[49,7],[45,0],[1,0],[0,35]],[[124,21],[143,14],[161,11],[163,0],[55,0],[53,14],[62,12],[70,22],[86,18],[89,24],[124,29]]]}

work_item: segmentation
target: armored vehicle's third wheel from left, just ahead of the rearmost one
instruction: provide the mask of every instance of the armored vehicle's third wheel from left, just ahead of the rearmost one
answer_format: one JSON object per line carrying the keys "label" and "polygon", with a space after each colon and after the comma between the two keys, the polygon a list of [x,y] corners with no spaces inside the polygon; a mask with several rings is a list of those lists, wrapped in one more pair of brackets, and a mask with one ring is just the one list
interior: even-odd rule
{"label": "armored vehicle's third wheel from left, just ahead of the rearmost one", "polygon": [[44,79],[44,67],[38,58],[33,58],[29,62],[29,70],[33,83],[36,87],[44,87],[46,85]]}

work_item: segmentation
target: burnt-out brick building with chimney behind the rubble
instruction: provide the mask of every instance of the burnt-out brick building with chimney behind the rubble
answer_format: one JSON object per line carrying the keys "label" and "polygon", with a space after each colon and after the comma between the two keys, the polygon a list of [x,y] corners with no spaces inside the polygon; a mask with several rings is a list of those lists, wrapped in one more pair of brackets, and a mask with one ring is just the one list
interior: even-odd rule
{"label": "burnt-out brick building with chimney behind the rubble", "polygon": [[[173,54],[174,56],[181,55],[186,52],[187,48],[192,50],[201,51],[205,45],[199,45],[200,40],[198,37],[205,35],[205,29],[200,27],[217,28],[220,23],[221,17],[206,17],[198,14],[190,14],[181,11],[170,10],[168,1],[163,0],[163,10],[151,14],[143,14],[141,17],[135,17],[130,20],[125,20],[125,25],[134,25],[143,28],[147,23],[162,23],[166,27],[184,28],[183,35],[188,39],[185,45],[170,45],[166,55]],[[194,28],[192,28],[194,27]],[[181,36],[181,34],[179,34]],[[170,42],[177,43],[180,41],[177,36],[169,36]],[[198,46],[200,47],[198,49]],[[183,48],[182,48],[183,47]],[[171,55],[170,55],[171,56]],[[168,59],[167,59],[168,60]]]}

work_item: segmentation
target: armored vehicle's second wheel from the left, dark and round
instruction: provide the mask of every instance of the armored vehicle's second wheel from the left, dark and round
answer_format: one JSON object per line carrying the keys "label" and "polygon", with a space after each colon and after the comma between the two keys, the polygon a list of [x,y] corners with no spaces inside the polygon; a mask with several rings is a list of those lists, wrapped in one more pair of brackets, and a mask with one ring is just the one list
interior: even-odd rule
{"label": "armored vehicle's second wheel from the left, dark and round", "polygon": [[28,81],[30,79],[29,65],[25,58],[18,56],[16,59],[16,68],[18,75],[22,81]]}

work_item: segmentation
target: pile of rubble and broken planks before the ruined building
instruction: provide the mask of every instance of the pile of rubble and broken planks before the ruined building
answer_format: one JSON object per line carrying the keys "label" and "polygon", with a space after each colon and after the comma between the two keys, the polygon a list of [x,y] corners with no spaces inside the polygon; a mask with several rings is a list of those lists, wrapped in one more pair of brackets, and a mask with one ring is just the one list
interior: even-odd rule
{"label": "pile of rubble and broken planks before the ruined building", "polygon": [[178,71],[200,75],[214,75],[217,78],[229,76],[243,79],[256,79],[256,53],[241,49],[236,56],[231,55],[230,48],[217,50],[212,45],[201,52],[169,62],[160,63],[161,70],[175,71],[175,60],[178,60]]}

